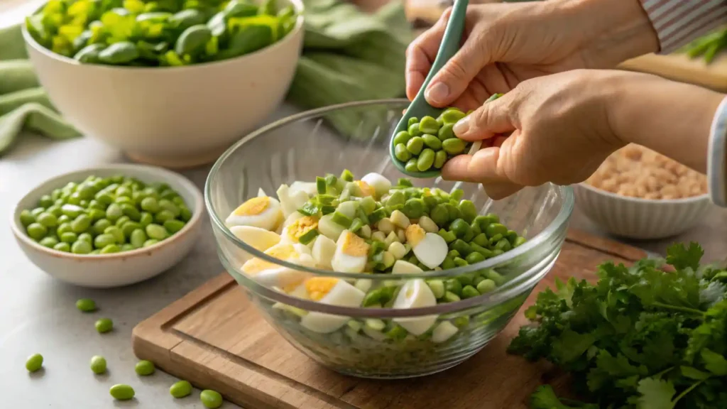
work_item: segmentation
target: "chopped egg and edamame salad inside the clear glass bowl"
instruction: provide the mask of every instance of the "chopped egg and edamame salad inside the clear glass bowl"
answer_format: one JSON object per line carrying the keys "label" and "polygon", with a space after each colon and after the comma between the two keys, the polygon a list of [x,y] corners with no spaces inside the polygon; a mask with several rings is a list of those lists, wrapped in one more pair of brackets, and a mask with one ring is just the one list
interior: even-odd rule
{"label": "chopped egg and edamame salad inside the clear glass bowl", "polygon": [[[225,223],[246,244],[274,258],[310,268],[347,273],[416,274],[478,263],[518,247],[525,239],[507,229],[497,215],[478,215],[463,191],[395,186],[382,175],[360,180],[344,170],[316,182],[282,185],[277,196],[262,190],[237,207]],[[451,303],[494,290],[503,277],[491,269],[451,279],[381,280],[316,277],[276,263],[251,258],[244,274],[297,298],[334,306],[412,309]],[[380,278],[380,277],[377,277]],[[426,338],[447,341],[461,322],[436,315],[384,322],[302,311],[300,325],[327,334],[344,328],[374,340]]]}

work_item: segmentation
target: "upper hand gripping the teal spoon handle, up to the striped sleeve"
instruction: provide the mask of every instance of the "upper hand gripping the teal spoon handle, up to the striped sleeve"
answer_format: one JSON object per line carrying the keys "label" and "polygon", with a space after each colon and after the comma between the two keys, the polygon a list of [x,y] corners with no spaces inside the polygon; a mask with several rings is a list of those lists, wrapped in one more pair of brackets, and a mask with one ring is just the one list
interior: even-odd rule
{"label": "upper hand gripping the teal spoon handle, up to the striped sleeve", "polygon": [[[406,50],[410,100],[429,74],[449,14]],[[638,0],[479,4],[467,9],[463,38],[457,55],[427,87],[425,96],[433,106],[469,111],[526,79],[577,68],[610,68],[659,47]]]}

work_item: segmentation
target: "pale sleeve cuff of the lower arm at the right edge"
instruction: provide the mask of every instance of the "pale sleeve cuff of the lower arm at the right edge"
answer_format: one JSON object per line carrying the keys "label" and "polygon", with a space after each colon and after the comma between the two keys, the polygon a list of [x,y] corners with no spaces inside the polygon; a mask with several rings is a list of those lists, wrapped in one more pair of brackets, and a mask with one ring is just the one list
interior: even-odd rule
{"label": "pale sleeve cuff of the lower arm at the right edge", "polygon": [[727,207],[727,97],[715,113],[707,151],[707,186],[712,202]]}

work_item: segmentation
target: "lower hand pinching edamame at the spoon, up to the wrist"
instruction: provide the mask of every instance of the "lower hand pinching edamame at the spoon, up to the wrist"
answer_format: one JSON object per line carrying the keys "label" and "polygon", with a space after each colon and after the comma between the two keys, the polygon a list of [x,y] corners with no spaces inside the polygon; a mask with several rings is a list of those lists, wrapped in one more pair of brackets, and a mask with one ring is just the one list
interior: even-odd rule
{"label": "lower hand pinching edamame at the spoon, up to the wrist", "polygon": [[608,116],[624,75],[629,74],[576,70],[521,82],[455,124],[459,138],[489,140],[494,146],[454,156],[442,177],[482,183],[492,199],[524,186],[587,179],[625,145]]}

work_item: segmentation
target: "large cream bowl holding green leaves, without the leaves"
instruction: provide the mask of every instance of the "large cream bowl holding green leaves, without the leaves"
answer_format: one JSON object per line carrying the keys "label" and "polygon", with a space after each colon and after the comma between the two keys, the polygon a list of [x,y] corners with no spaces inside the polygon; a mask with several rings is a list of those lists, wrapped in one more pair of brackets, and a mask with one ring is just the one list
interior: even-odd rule
{"label": "large cream bowl holding green leaves, without the leaves", "polygon": [[[284,4],[302,12],[300,0]],[[184,67],[81,64],[42,47],[24,24],[23,37],[68,122],[136,162],[179,168],[212,162],[276,110],[300,57],[302,23],[300,16],[288,35],[257,52]]]}

